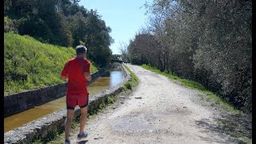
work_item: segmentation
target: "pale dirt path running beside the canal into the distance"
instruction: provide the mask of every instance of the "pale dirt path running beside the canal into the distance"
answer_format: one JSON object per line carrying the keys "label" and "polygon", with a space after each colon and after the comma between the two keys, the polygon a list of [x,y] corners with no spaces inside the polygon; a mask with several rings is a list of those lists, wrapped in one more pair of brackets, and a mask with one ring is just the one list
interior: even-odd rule
{"label": "pale dirt path running beside the canal into the distance", "polygon": [[[218,110],[199,102],[197,90],[140,66],[127,66],[138,76],[138,87],[116,107],[90,119],[86,143],[234,143],[216,128]],[[70,139],[78,142],[76,134]]]}

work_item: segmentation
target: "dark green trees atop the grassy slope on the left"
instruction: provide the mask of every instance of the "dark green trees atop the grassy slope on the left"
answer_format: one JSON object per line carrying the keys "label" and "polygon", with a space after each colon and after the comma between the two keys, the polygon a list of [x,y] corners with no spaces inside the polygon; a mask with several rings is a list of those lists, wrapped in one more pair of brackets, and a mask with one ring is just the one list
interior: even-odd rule
{"label": "dark green trees atop the grassy slope on the left", "polygon": [[85,45],[98,66],[110,62],[111,29],[97,10],[86,10],[70,0],[5,0],[5,32],[28,34],[59,46]]}

